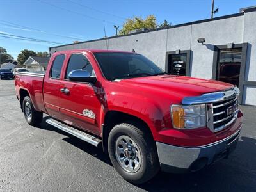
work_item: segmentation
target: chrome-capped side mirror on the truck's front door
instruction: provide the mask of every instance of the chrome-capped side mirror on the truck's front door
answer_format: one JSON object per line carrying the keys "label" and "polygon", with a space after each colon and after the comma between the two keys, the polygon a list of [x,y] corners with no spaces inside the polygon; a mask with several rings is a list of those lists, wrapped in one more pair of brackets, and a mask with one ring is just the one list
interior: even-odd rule
{"label": "chrome-capped side mirror on the truck's front door", "polygon": [[95,83],[96,77],[90,76],[90,73],[87,70],[72,70],[68,74],[68,79],[70,81],[79,81],[79,82],[89,82],[89,83]]}

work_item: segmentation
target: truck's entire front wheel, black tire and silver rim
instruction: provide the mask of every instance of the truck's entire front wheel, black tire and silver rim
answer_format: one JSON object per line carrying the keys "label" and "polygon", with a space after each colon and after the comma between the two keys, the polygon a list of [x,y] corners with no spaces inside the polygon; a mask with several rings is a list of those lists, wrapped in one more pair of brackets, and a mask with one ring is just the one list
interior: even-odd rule
{"label": "truck's entire front wheel, black tire and silver rim", "polygon": [[133,184],[147,182],[159,170],[156,145],[142,124],[116,125],[109,133],[108,152],[116,171]]}

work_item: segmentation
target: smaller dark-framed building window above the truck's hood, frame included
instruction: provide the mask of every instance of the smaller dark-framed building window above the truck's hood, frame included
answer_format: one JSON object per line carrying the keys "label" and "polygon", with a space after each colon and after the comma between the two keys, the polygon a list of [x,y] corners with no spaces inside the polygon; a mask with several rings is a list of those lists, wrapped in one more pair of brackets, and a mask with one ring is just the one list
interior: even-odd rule
{"label": "smaller dark-framed building window above the truck's hood, frame included", "polygon": [[190,50],[166,52],[166,72],[177,76],[189,76]]}

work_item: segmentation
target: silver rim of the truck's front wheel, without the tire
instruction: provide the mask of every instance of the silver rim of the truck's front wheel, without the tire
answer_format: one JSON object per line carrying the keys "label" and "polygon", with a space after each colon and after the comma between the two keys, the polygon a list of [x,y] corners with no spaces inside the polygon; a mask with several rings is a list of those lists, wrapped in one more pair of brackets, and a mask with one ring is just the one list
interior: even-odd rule
{"label": "silver rim of the truck's front wheel, without the tire", "polygon": [[137,172],[141,166],[141,152],[129,136],[119,136],[115,141],[115,155],[120,166],[127,172]]}

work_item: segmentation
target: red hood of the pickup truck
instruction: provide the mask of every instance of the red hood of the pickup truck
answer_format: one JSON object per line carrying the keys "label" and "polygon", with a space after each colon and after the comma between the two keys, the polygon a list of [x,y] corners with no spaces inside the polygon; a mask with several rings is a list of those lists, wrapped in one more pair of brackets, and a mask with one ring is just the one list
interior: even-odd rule
{"label": "red hood of the pickup truck", "polygon": [[218,92],[233,87],[232,84],[221,81],[171,75],[123,79],[120,83],[132,86],[132,88],[138,87],[141,92],[143,92],[143,89],[150,89],[162,93],[175,93],[175,95],[178,94],[181,97]]}

